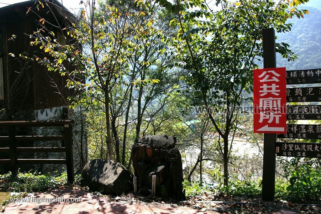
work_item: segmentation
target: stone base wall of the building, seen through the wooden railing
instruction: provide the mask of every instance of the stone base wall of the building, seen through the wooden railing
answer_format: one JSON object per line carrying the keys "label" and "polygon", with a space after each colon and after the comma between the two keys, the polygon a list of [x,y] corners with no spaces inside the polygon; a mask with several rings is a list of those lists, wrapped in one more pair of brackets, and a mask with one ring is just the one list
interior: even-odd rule
{"label": "stone base wall of the building, seen through the wooden railing", "polygon": [[[68,110],[67,107],[52,107],[34,111],[1,111],[1,121],[13,120],[61,120],[72,119],[73,125],[73,153],[74,170],[76,173],[82,171],[82,161],[86,164],[88,159],[87,141],[85,134],[84,114],[80,107],[74,110]],[[81,120],[83,123],[81,123]],[[16,129],[17,135],[63,135],[63,127],[20,127]],[[7,136],[6,128],[0,128],[0,136]],[[17,141],[17,146],[21,147],[62,147],[63,141]],[[1,141],[0,147],[9,147],[8,142]],[[82,157],[81,151],[82,150]],[[0,159],[9,158],[9,154],[0,154]],[[65,153],[19,153],[18,158],[36,158],[36,159],[65,159]],[[61,173],[66,170],[66,165],[62,164],[20,164],[17,165],[20,171],[37,171],[42,173]],[[0,164],[0,174],[7,173],[10,170],[8,164]]]}

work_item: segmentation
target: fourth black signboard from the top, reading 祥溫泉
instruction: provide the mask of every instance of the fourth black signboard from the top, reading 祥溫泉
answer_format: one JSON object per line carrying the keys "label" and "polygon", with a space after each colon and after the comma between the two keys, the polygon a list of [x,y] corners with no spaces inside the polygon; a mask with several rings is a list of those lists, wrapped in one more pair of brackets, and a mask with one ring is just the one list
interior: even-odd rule
{"label": "fourth black signboard from the top, reading \u7965\u6eab\u6cc9", "polygon": [[278,134],[278,138],[321,139],[321,125],[287,124],[286,134]]}

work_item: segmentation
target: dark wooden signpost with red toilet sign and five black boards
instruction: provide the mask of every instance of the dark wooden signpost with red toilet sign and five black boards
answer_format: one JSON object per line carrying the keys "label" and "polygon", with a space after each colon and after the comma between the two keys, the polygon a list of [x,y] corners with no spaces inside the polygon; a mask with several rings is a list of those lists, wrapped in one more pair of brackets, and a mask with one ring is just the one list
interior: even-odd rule
{"label": "dark wooden signpost with red toilet sign and five black boards", "polygon": [[[264,68],[274,68],[271,70],[277,71],[275,62],[275,35],[274,29],[263,30],[263,59]],[[259,69],[266,70],[266,69]],[[254,70],[255,71],[255,70]],[[253,71],[253,89],[257,84]],[[279,75],[279,74],[278,74]],[[281,78],[281,76],[280,76]],[[261,81],[261,80],[260,80]],[[265,79],[266,81],[266,79]],[[272,81],[272,80],[270,80]],[[280,82],[281,79],[278,79]],[[282,81],[284,81],[282,79]],[[286,84],[314,84],[321,82],[321,69],[297,70],[286,71]],[[275,86],[275,85],[274,85]],[[262,86],[260,86],[262,87]],[[281,83],[278,87],[281,88]],[[274,87],[275,88],[275,87]],[[285,91],[285,87],[283,89]],[[275,155],[285,157],[308,157],[308,158],[321,158],[321,143],[309,142],[277,142],[277,138],[282,139],[321,139],[321,124],[286,124],[284,132],[279,129],[270,130],[269,132],[262,131],[256,127],[257,110],[255,104],[257,103],[256,90],[253,90],[253,105],[254,105],[254,132],[264,133],[264,153],[263,153],[263,179],[262,179],[262,200],[273,201],[275,192]],[[282,90],[279,90],[281,93]],[[261,95],[260,95],[261,96]],[[270,96],[269,96],[270,97]],[[286,89],[286,102],[321,102],[321,87],[303,87],[303,88],[288,88]],[[262,98],[260,97],[260,100]],[[262,100],[264,100],[263,98]],[[272,96],[271,96],[272,99]],[[273,98],[275,99],[275,98]],[[280,95],[280,98],[283,96]],[[271,101],[272,102],[272,101]],[[283,103],[283,102],[281,102]],[[264,108],[263,108],[264,109]],[[283,109],[284,110],[284,109]],[[259,110],[260,114],[261,111]],[[275,116],[275,112],[270,112]],[[288,105],[286,111],[281,111],[286,120],[321,120],[321,105]],[[284,115],[286,112],[286,115]],[[267,116],[265,116],[267,117]],[[278,117],[283,121],[284,117]],[[279,123],[281,127],[281,123]],[[261,121],[262,122],[262,121]],[[260,123],[261,123],[260,122]],[[269,121],[271,123],[271,120]],[[271,125],[271,124],[270,124]],[[275,124],[274,124],[275,125]],[[284,123],[285,126],[285,123]],[[266,127],[268,127],[266,125]],[[267,129],[263,130],[267,131]],[[275,131],[275,132],[274,132]],[[277,135],[276,135],[277,134]]]}

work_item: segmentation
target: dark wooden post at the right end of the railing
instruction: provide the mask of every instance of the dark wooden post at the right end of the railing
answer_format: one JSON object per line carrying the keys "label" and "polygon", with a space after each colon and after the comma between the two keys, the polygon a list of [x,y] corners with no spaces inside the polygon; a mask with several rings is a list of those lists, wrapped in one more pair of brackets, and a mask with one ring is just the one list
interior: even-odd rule
{"label": "dark wooden post at the right end of the railing", "polygon": [[71,124],[64,125],[67,178],[69,183],[74,183],[74,159],[73,159],[73,127]]}

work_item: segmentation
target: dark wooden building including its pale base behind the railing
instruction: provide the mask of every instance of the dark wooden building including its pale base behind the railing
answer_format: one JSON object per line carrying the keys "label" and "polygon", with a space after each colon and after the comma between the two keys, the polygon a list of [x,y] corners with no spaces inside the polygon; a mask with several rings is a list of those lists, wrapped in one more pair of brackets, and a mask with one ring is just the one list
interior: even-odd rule
{"label": "dark wooden building including its pale base behind the railing", "polygon": [[[76,93],[65,87],[66,76],[63,77],[58,72],[49,72],[36,60],[26,60],[20,56],[34,59],[45,56],[51,59],[51,56],[39,46],[30,46],[30,41],[34,41],[30,35],[39,30],[41,18],[45,21],[46,27],[55,33],[60,44],[65,45],[69,41],[67,34],[61,29],[70,25],[75,17],[56,0],[31,0],[0,8],[0,120],[2,121],[66,119],[64,117],[68,107],[67,97]],[[67,69],[74,69],[68,61],[63,63]],[[74,124],[74,127],[77,129],[77,124]],[[83,127],[79,129],[83,130]],[[59,132],[59,130],[29,130],[34,135],[41,135],[42,131],[54,134]],[[77,136],[74,134],[75,138]],[[30,142],[33,146],[35,144],[41,146],[41,143]],[[79,162],[80,151],[77,148],[86,149],[86,146],[74,143],[74,147],[74,160]],[[87,154],[86,150],[82,153]],[[75,166],[75,169],[77,168],[79,169],[79,166]]]}

